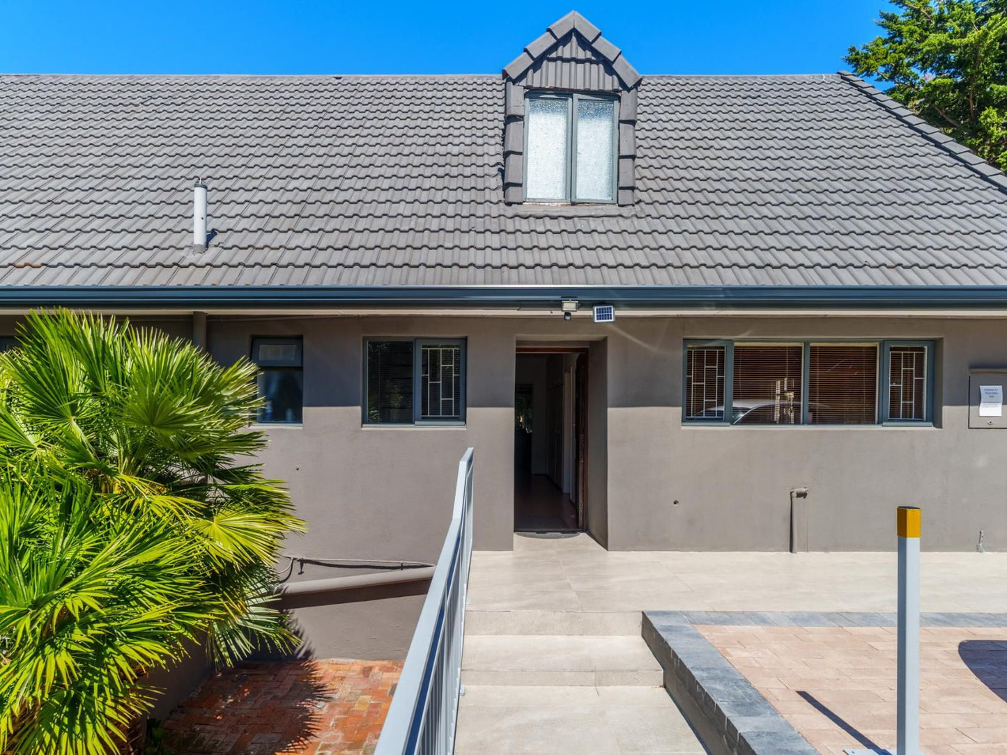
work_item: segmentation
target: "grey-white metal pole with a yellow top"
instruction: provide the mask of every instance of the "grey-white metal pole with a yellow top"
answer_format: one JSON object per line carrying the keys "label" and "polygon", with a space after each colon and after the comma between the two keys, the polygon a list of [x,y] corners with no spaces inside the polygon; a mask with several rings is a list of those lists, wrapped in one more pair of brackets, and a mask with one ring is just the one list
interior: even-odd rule
{"label": "grey-white metal pole with a yellow top", "polygon": [[915,506],[899,506],[897,755],[919,755],[919,525]]}

